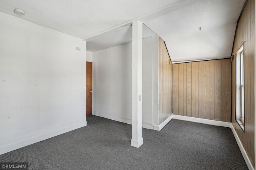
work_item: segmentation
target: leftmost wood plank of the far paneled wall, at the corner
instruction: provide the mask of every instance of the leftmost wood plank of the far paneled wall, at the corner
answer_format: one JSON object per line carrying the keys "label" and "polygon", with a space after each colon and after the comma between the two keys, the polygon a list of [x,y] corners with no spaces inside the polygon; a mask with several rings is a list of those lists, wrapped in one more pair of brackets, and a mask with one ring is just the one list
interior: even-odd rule
{"label": "leftmost wood plank of the far paneled wall, at the corner", "polygon": [[178,81],[178,74],[179,74],[179,65],[174,64],[172,65],[172,113],[178,115],[179,109],[179,81]]}

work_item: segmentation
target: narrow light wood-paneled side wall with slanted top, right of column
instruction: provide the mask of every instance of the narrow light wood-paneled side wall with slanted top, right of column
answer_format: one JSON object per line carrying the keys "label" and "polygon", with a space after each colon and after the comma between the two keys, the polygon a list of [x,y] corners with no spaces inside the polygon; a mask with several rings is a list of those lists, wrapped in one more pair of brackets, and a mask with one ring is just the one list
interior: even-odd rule
{"label": "narrow light wood-paneled side wall with slanted top, right of column", "polygon": [[172,115],[172,64],[164,41],[158,38],[159,125]]}

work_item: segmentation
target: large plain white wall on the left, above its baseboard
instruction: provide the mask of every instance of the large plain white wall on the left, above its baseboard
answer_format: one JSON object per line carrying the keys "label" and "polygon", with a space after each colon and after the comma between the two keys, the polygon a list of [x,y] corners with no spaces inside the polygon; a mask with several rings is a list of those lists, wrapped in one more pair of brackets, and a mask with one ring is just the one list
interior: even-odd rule
{"label": "large plain white wall on the left, above its baseboard", "polygon": [[0,154],[85,126],[86,42],[2,12],[0,25]]}

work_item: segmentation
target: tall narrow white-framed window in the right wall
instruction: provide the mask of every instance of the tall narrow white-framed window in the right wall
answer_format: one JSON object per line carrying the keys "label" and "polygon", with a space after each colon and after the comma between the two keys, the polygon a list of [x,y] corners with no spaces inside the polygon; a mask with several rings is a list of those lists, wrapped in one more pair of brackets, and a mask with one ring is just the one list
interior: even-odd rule
{"label": "tall narrow white-framed window in the right wall", "polygon": [[236,122],[244,131],[244,45],[236,52]]}

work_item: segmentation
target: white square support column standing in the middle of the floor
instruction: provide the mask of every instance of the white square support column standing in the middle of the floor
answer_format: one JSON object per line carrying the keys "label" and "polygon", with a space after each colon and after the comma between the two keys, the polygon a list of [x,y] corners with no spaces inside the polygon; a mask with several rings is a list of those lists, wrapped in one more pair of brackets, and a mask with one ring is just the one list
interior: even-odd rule
{"label": "white square support column standing in the middle of the floor", "polygon": [[132,22],[132,146],[143,144],[142,138],[142,23]]}

